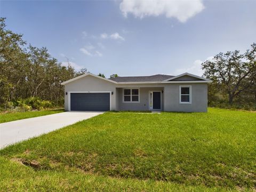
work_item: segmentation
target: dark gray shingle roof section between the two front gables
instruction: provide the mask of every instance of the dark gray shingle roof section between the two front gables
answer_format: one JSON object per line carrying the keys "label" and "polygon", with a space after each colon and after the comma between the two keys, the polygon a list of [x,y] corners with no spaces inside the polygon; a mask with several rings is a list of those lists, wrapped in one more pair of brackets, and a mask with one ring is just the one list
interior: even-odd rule
{"label": "dark gray shingle roof section between the two front gables", "polygon": [[116,82],[157,82],[164,81],[165,79],[171,78],[171,75],[151,75],[151,76],[134,76],[134,77],[114,77],[109,78]]}

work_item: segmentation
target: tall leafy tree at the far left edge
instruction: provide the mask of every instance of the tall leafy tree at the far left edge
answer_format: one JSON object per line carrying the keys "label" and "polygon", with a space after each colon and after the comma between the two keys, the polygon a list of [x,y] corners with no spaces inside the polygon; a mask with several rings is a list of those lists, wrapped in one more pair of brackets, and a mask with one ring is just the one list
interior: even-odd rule
{"label": "tall leafy tree at the far left edge", "polygon": [[28,54],[22,35],[6,29],[5,18],[0,18],[0,106],[17,97],[25,83]]}

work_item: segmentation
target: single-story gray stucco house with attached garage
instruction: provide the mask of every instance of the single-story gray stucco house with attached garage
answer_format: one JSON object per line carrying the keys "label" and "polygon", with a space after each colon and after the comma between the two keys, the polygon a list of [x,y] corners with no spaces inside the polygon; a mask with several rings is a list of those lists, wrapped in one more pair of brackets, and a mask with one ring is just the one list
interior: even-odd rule
{"label": "single-story gray stucco house with attached garage", "polygon": [[91,73],[65,85],[66,111],[207,111],[207,83],[193,74],[103,78]]}

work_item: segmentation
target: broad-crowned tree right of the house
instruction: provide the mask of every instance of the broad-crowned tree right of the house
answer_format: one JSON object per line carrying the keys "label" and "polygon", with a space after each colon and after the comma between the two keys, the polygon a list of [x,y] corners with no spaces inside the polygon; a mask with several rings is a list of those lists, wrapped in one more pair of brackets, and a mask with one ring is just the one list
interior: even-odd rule
{"label": "broad-crowned tree right of the house", "polygon": [[221,85],[228,94],[229,103],[233,103],[241,92],[248,89],[256,76],[256,44],[244,54],[239,51],[215,55],[213,60],[202,63],[204,76]]}

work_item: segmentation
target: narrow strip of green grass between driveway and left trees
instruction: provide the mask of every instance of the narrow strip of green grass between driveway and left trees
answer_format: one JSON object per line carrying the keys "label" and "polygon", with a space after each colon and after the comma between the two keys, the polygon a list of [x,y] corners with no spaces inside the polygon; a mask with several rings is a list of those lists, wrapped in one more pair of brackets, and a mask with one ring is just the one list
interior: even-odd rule
{"label": "narrow strip of green grass between driveway and left trees", "polygon": [[16,121],[19,119],[26,119],[26,118],[31,118],[31,117],[51,115],[51,114],[56,114],[56,113],[61,113],[61,112],[64,112],[64,109],[26,111],[26,112],[15,112],[15,113],[0,113],[0,123]]}

